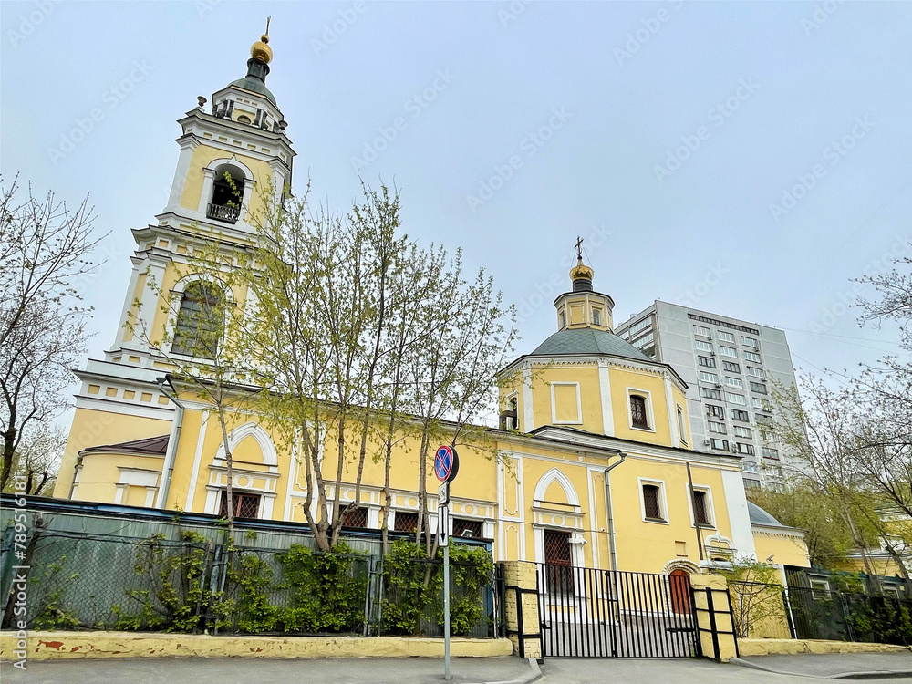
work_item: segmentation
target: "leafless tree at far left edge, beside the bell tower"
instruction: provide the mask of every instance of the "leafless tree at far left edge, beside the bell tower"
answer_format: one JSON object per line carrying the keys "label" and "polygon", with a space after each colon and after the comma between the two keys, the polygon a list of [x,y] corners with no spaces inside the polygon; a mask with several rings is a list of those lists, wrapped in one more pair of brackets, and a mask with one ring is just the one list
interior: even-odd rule
{"label": "leafless tree at far left edge, beside the bell tower", "polygon": [[80,306],[78,278],[103,235],[93,235],[88,200],[75,210],[53,193],[17,197],[14,180],[0,190],[0,488],[16,451],[68,405],[63,389],[85,353],[91,309]]}

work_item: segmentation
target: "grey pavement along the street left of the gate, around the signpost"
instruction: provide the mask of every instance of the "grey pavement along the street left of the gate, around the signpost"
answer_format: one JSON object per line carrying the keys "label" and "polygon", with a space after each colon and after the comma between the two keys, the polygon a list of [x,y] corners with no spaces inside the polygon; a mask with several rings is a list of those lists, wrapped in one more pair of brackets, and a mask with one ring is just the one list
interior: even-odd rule
{"label": "grey pavement along the street left of the gate, around the signpost", "polygon": [[[4,661],[3,684],[439,684],[442,658],[108,658],[42,660],[25,672]],[[538,664],[524,658],[453,658],[453,684],[529,684]]]}

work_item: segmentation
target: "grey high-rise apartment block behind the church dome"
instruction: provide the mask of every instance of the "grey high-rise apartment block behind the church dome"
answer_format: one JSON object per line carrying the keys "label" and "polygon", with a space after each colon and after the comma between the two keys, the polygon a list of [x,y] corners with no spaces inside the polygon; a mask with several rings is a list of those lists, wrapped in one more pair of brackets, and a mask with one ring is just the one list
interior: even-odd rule
{"label": "grey high-rise apartment block behind the church dome", "polygon": [[795,382],[784,331],[657,300],[615,333],[687,382],[692,449],[740,455],[745,487],[781,487],[770,399]]}

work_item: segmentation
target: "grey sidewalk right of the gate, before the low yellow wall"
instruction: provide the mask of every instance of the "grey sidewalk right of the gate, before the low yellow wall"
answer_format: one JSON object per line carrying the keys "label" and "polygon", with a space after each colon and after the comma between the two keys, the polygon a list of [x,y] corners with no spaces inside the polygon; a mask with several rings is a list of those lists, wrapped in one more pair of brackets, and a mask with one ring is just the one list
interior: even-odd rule
{"label": "grey sidewalk right of the gate, before the low yellow wall", "polygon": [[824,679],[907,679],[912,681],[912,651],[907,653],[827,653],[736,658],[736,665],[778,674]]}

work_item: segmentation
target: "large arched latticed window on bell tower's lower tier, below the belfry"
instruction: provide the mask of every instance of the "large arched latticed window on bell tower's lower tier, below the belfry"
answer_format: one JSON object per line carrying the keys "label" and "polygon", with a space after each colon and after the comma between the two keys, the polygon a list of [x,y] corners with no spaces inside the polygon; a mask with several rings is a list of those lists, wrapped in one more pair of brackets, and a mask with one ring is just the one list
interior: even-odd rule
{"label": "large arched latticed window on bell tower's lower tier, below the belfry", "polygon": [[223,333],[224,297],[209,283],[187,285],[174,327],[171,351],[188,357],[215,358]]}

